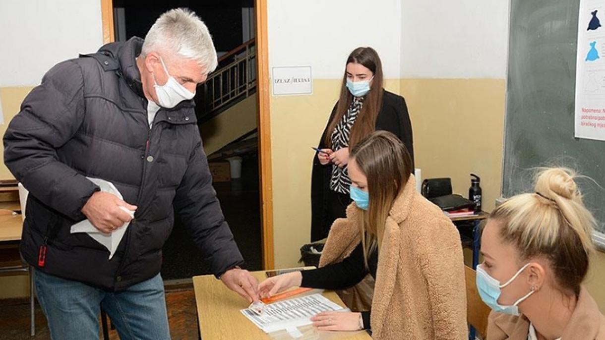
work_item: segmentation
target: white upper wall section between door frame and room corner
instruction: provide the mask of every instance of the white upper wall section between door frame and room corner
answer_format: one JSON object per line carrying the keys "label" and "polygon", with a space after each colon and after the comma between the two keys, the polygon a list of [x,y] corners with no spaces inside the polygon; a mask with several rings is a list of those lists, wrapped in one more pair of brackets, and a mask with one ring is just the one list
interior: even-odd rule
{"label": "white upper wall section between door frame and room corner", "polygon": [[399,79],[401,1],[267,1],[269,63],[311,65],[313,79],[341,79],[351,51],[378,51],[385,78]]}

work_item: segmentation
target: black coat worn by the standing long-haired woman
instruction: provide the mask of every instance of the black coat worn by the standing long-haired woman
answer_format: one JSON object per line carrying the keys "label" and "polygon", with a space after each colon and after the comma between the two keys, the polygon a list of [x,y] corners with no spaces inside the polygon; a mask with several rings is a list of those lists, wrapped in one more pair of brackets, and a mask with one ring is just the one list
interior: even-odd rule
{"label": "black coat worn by the standing long-haired woman", "polygon": [[[338,103],[337,103],[338,104]],[[329,122],[336,114],[336,105],[330,114]],[[412,142],[412,126],[408,106],[405,99],[388,91],[382,96],[382,108],[376,119],[376,130],[385,130],[399,137],[412,157],[414,164],[414,148]],[[325,148],[325,135],[328,133],[327,126],[319,140],[318,148]],[[414,167],[412,166],[412,171]],[[327,214],[328,192],[330,190],[330,177],[332,176],[332,163],[321,165],[316,155],[313,158],[313,171],[311,175],[311,241],[321,240],[327,237],[330,227],[334,221],[330,221]]]}

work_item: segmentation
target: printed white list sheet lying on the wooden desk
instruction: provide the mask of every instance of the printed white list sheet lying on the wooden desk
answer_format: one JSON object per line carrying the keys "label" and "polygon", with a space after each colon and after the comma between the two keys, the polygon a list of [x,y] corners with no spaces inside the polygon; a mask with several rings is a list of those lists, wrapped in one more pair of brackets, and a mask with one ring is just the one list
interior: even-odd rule
{"label": "printed white list sheet lying on the wooden desk", "polygon": [[287,330],[294,338],[302,335],[296,327],[311,324],[311,317],[320,312],[342,311],[338,304],[316,293],[301,298],[287,299],[267,304],[260,315],[251,309],[242,309],[246,318],[265,333]]}

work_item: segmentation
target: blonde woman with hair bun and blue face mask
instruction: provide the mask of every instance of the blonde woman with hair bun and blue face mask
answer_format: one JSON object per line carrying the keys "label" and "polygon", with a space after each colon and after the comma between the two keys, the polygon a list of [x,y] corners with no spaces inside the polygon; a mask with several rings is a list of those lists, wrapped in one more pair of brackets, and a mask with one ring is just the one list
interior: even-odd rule
{"label": "blonde woman with hair bun and blue face mask", "polygon": [[546,168],[534,192],[489,215],[477,288],[492,308],[488,340],[605,339],[605,318],[582,282],[596,221],[571,169]]}

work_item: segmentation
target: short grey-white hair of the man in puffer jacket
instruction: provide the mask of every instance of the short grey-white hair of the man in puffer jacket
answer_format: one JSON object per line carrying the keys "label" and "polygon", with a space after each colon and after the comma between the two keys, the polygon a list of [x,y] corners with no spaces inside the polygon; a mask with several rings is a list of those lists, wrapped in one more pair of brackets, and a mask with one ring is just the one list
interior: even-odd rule
{"label": "short grey-white hair of the man in puffer jacket", "polygon": [[217,51],[208,27],[187,9],[176,8],[160,15],[149,28],[140,55],[166,50],[197,61],[206,73],[217,68]]}

